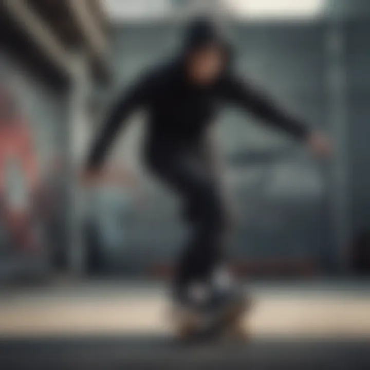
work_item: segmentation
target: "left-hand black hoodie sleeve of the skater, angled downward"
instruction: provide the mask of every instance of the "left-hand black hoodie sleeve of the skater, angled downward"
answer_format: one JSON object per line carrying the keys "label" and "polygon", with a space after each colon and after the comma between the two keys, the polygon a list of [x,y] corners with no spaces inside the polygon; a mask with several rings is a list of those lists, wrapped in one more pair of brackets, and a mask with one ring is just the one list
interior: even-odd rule
{"label": "left-hand black hoodie sleeve of the skater, angled downward", "polygon": [[151,91],[152,84],[147,79],[143,79],[118,96],[88,153],[87,167],[89,169],[99,167],[118,131],[125,125],[125,120],[134,110],[146,103]]}

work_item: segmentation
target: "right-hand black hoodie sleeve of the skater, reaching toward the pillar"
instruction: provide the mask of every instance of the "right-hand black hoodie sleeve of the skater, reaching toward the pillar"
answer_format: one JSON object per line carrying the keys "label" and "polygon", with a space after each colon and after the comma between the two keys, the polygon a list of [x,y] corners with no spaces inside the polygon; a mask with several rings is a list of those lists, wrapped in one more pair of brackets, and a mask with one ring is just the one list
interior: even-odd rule
{"label": "right-hand black hoodie sleeve of the skater, reaching toward the pillar", "polygon": [[230,103],[243,107],[267,124],[281,128],[297,139],[305,139],[309,134],[309,129],[303,122],[287,114],[271,99],[242,79],[226,77],[220,84],[220,92]]}

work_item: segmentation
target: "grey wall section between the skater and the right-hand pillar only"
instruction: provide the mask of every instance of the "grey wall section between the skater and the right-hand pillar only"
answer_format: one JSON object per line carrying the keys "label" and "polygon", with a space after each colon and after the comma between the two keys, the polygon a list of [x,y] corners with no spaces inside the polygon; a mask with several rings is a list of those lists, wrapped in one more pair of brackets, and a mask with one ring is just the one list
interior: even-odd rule
{"label": "grey wall section between the skater and the right-hand pillar only", "polygon": [[[327,122],[326,45],[321,23],[252,24],[235,27],[240,50],[237,65],[289,112],[311,126]],[[230,150],[292,143],[280,133],[263,130],[255,119],[226,117],[234,125]],[[228,127],[228,128],[227,128]],[[307,153],[292,149],[264,167],[235,169],[242,200],[238,251],[249,258],[312,258],[323,247],[324,179]],[[260,180],[253,173],[260,174]],[[239,200],[240,201],[240,200]]]}

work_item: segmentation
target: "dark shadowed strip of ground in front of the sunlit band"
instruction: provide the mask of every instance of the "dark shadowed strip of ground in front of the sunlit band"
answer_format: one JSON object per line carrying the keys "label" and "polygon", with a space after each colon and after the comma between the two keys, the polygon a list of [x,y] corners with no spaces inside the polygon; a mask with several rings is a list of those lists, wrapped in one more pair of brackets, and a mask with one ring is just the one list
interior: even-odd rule
{"label": "dark shadowed strip of ground in front of the sunlit band", "polygon": [[370,340],[180,343],[166,336],[0,340],[7,369],[366,369]]}

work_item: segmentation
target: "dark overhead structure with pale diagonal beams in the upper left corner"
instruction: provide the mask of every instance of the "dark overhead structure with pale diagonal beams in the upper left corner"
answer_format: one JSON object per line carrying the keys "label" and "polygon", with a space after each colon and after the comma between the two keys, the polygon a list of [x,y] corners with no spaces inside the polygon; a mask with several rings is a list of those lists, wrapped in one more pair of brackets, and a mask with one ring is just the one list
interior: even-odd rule
{"label": "dark overhead structure with pale diagonal beams in the upper left corner", "polygon": [[106,29],[98,0],[0,2],[0,41],[5,50],[55,85],[68,84],[73,54],[81,50],[93,77],[107,80]]}

